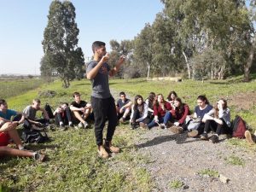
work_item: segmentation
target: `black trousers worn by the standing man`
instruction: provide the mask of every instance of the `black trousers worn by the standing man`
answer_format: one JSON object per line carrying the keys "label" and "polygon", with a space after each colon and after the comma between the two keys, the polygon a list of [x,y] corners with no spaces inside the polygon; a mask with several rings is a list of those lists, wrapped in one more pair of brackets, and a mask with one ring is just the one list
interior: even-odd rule
{"label": "black trousers worn by the standing man", "polygon": [[100,146],[103,144],[103,129],[106,123],[106,119],[108,119],[106,141],[112,141],[113,133],[118,122],[115,103],[112,96],[106,99],[91,96],[90,101],[95,119],[96,144]]}

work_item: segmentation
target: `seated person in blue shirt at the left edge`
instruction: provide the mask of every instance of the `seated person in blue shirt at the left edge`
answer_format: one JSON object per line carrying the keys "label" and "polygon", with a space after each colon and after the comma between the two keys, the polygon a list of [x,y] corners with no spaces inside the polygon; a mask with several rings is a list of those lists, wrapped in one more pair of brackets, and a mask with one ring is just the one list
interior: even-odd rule
{"label": "seated person in blue shirt at the left edge", "polygon": [[[21,116],[21,118],[20,118]],[[13,121],[11,118],[14,117]],[[24,121],[24,116],[21,113],[16,112],[8,108],[8,104],[5,100],[0,99],[0,125],[3,125],[6,122],[13,122],[14,125],[20,125]]]}

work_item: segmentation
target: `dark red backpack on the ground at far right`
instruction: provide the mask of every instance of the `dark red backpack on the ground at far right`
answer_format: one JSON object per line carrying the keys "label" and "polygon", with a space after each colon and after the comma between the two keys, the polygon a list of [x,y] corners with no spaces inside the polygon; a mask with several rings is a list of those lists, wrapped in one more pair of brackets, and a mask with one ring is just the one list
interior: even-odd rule
{"label": "dark red backpack on the ground at far right", "polygon": [[247,131],[246,122],[239,115],[232,121],[232,137],[244,138],[244,133]]}

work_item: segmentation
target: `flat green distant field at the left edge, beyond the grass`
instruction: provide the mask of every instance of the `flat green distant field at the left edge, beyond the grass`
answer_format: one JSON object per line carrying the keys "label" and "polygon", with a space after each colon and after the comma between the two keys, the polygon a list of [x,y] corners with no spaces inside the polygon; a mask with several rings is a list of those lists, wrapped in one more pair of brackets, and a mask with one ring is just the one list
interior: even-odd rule
{"label": "flat green distant field at the left edge, beyond the grass", "polygon": [[19,96],[28,90],[38,88],[44,81],[42,79],[0,79],[0,98],[7,99],[11,96]]}

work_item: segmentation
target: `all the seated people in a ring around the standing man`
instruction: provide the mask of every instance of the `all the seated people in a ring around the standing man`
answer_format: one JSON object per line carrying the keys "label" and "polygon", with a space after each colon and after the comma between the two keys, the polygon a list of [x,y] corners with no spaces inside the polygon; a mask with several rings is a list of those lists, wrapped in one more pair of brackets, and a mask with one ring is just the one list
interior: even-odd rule
{"label": "all the seated people in a ring around the standing man", "polygon": [[[131,129],[141,127],[143,130],[150,130],[154,126],[161,129],[170,128],[174,133],[188,131],[188,137],[200,137],[202,140],[210,140],[218,143],[220,134],[231,134],[230,108],[224,99],[219,99],[212,106],[206,96],[197,97],[197,106],[194,113],[190,114],[188,104],[182,102],[175,91],[171,91],[166,100],[162,94],[155,95],[150,92],[144,101],[143,96],[137,95],[134,102],[131,102],[125,92],[119,93],[119,100],[116,103],[116,113],[120,123],[130,122]],[[93,109],[90,103],[81,100],[79,92],[73,93],[74,101],[68,107],[67,102],[62,102],[53,112],[55,125],[61,131],[67,126],[87,128],[88,119],[93,120]],[[44,160],[45,155],[32,152],[24,148],[16,127],[23,124],[24,129],[35,129],[49,125],[49,111],[40,107],[39,99],[34,99],[32,105],[27,106],[22,113],[8,108],[7,102],[0,99],[0,156],[13,155],[31,157],[35,160]],[[36,113],[41,111],[43,119],[37,119]],[[14,119],[11,119],[15,117]],[[78,125],[78,126],[74,126]],[[208,132],[213,131],[212,137],[208,137]],[[246,131],[245,137],[249,143],[254,143],[254,135]],[[10,140],[15,143],[16,148],[9,148]]]}

